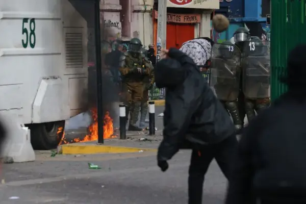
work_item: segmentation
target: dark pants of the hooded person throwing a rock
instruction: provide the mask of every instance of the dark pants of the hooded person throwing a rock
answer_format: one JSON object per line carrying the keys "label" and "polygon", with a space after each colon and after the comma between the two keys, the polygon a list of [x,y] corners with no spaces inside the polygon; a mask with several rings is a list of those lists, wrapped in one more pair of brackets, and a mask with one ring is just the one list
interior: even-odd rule
{"label": "dark pants of the hooded person throwing a rock", "polygon": [[216,159],[223,174],[228,178],[237,145],[238,141],[234,135],[218,144],[202,147],[199,151],[192,150],[188,177],[189,204],[202,203],[204,177],[213,159]]}

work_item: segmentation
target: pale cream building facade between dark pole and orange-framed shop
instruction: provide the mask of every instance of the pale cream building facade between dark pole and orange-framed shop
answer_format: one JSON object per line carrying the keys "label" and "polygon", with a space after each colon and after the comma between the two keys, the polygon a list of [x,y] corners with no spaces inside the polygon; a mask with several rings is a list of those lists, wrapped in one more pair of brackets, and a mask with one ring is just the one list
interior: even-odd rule
{"label": "pale cream building facade between dark pole and orange-framed shop", "polygon": [[138,37],[144,46],[153,39],[154,0],[101,0],[101,24],[108,30],[110,41]]}

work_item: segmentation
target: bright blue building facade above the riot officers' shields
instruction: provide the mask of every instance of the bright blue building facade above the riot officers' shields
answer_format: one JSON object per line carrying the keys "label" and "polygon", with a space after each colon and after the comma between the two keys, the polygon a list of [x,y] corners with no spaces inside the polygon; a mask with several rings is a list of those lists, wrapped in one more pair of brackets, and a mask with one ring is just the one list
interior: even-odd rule
{"label": "bright blue building facade above the riot officers' shields", "polygon": [[215,13],[227,16],[231,22],[226,32],[213,32],[216,42],[230,40],[239,27],[248,28],[252,37],[270,39],[270,25],[266,24],[270,0],[220,0],[220,9]]}

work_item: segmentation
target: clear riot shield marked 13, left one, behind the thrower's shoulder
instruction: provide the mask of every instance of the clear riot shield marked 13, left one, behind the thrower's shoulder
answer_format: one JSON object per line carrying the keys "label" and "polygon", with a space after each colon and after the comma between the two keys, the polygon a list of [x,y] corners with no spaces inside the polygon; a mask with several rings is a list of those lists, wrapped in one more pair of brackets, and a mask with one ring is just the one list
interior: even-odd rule
{"label": "clear riot shield marked 13, left one, behind the thrower's shoulder", "polygon": [[212,47],[210,86],[220,100],[236,100],[239,94],[240,50],[236,45]]}

